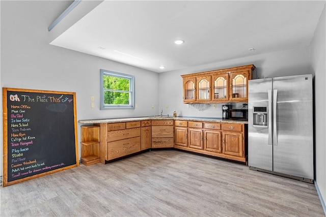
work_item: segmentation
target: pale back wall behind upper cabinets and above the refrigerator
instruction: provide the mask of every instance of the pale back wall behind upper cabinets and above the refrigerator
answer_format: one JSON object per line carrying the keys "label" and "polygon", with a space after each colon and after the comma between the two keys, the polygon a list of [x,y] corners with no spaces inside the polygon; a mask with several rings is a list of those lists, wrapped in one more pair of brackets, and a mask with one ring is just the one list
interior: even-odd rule
{"label": "pale back wall behind upper cabinets and above the refrigerator", "polygon": [[[183,91],[182,78],[180,75],[249,64],[254,64],[256,66],[257,77],[259,78],[309,74],[310,49],[309,47],[302,47],[263,55],[253,55],[245,58],[231,59],[189,69],[160,73],[159,105],[169,105],[168,109],[163,109],[163,113],[169,113],[171,115],[173,114],[173,111],[176,110],[178,116],[221,118],[222,104],[216,104],[216,108],[211,106],[208,110],[199,111],[191,106],[187,108],[186,104],[182,103]],[[234,103],[233,106],[241,108],[242,103]]]}

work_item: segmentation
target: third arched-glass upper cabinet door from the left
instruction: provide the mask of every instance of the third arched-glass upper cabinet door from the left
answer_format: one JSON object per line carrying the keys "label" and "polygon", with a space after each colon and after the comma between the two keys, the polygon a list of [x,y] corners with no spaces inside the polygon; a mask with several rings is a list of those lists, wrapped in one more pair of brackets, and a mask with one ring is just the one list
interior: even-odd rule
{"label": "third arched-glass upper cabinet door from the left", "polygon": [[220,74],[213,76],[212,100],[229,100],[229,75]]}

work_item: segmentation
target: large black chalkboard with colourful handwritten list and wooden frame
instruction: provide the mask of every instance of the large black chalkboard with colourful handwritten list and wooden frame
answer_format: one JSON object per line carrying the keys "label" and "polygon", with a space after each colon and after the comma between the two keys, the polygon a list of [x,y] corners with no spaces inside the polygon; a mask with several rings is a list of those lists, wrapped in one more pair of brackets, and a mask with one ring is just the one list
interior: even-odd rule
{"label": "large black chalkboard with colourful handwritten list and wooden frame", "polygon": [[3,88],[3,186],[79,165],[74,92]]}

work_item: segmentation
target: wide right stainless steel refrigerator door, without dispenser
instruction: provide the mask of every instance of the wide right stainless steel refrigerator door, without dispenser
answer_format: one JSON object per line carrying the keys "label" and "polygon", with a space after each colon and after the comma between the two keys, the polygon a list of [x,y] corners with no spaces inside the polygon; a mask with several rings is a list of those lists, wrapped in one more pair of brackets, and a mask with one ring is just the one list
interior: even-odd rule
{"label": "wide right stainless steel refrigerator door, without dispenser", "polygon": [[273,78],[274,171],[313,179],[312,75]]}

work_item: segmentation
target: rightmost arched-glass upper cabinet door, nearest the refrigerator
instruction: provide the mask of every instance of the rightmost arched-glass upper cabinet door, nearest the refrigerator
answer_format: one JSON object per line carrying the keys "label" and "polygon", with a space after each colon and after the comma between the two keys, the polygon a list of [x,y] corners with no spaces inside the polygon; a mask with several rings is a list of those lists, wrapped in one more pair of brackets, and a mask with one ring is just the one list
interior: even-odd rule
{"label": "rightmost arched-glass upper cabinet door, nearest the refrigerator", "polygon": [[[247,81],[248,75],[244,73],[231,73],[232,78],[232,95],[233,100],[248,98]],[[240,99],[238,99],[240,98]]]}

